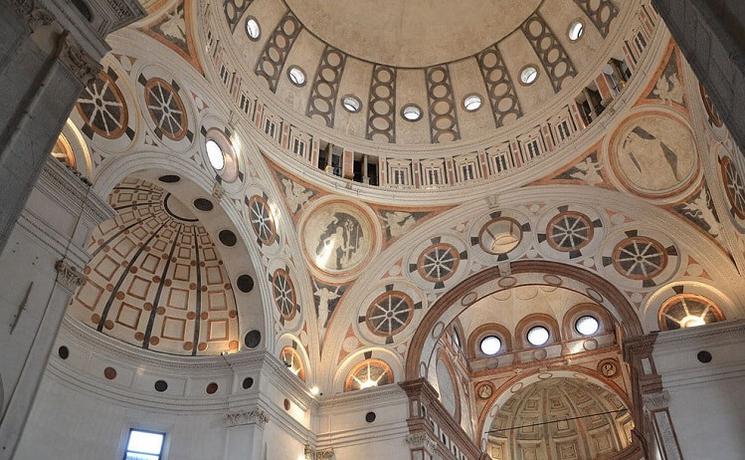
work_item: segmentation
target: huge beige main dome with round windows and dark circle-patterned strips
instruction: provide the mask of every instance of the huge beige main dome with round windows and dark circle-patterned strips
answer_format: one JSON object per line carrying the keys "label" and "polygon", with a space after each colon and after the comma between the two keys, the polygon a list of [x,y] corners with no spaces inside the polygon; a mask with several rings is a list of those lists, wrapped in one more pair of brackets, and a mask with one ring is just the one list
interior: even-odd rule
{"label": "huge beige main dome with round windows and dark circle-patterned strips", "polygon": [[611,59],[623,59],[621,24],[639,21],[638,2],[610,0],[212,8],[202,24],[207,52],[233,98],[243,96],[241,108],[255,98],[260,116],[367,149],[483,143],[521,119],[534,127],[533,115],[554,117]]}

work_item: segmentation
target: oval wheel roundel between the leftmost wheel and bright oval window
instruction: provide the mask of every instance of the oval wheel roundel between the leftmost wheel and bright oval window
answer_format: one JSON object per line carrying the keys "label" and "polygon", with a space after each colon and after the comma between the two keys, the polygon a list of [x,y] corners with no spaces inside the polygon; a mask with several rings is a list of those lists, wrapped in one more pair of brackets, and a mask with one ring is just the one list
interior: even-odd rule
{"label": "oval wheel roundel between the leftmost wheel and bright oval window", "polygon": [[180,141],[186,136],[186,108],[171,84],[160,78],[148,80],[145,105],[160,134],[172,141]]}

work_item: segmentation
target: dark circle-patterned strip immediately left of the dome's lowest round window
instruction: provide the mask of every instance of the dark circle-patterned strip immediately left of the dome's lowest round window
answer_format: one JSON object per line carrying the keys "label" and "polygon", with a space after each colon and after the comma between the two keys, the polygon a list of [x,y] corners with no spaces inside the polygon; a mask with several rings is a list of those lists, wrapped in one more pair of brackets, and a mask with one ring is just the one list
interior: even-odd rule
{"label": "dark circle-patterned strip immediately left of the dome's lowest round window", "polygon": [[367,104],[367,139],[396,142],[396,69],[376,64]]}

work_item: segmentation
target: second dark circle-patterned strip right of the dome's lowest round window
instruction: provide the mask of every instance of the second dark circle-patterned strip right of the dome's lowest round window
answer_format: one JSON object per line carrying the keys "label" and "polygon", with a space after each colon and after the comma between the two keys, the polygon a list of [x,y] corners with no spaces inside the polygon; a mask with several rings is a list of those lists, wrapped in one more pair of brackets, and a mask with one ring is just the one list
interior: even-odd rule
{"label": "second dark circle-patterned strip right of the dome's lowest round window", "polygon": [[476,61],[486,83],[486,94],[491,102],[496,127],[501,128],[505,122],[522,117],[523,110],[515,92],[515,85],[497,45],[492,45],[479,53]]}

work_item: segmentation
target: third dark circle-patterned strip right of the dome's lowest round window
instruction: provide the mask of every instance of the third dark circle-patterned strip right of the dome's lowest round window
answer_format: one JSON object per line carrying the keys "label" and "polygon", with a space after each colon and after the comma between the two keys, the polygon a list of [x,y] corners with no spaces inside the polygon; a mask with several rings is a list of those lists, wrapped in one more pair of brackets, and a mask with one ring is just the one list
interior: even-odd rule
{"label": "third dark circle-patterned strip right of the dome's lowest round window", "polygon": [[572,60],[540,14],[530,16],[522,24],[522,31],[541,60],[554,92],[558,93],[567,78],[577,76]]}

